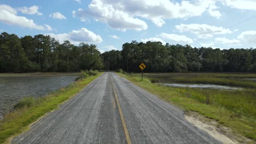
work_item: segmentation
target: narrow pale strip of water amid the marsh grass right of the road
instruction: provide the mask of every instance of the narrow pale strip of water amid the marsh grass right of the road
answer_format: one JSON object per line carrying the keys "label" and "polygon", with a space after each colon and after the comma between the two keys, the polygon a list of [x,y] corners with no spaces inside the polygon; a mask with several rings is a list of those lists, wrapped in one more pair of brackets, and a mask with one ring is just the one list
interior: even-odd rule
{"label": "narrow pale strip of water amid the marsh grass right of the road", "polygon": [[181,83],[158,83],[160,85],[170,86],[170,87],[189,87],[189,88],[213,88],[213,89],[242,89],[238,87],[228,87],[219,85],[208,85],[208,84],[181,84]]}

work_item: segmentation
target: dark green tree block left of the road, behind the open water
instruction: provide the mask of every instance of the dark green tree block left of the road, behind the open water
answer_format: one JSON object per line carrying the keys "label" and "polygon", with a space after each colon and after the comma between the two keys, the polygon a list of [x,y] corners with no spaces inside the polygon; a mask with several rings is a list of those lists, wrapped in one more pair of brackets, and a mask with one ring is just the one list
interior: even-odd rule
{"label": "dark green tree block left of the road, behind the open water", "polygon": [[96,45],[60,44],[49,35],[19,38],[3,32],[0,35],[0,72],[68,72],[103,68],[101,53]]}

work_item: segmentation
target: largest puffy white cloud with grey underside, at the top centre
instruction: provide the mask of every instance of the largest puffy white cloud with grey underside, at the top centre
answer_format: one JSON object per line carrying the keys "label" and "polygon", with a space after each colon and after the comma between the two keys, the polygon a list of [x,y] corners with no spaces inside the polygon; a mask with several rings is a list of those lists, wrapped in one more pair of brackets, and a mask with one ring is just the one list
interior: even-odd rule
{"label": "largest puffy white cloud with grey underside, at the top centre", "polygon": [[[114,29],[126,31],[133,29],[141,31],[147,29],[147,23],[139,19],[142,17],[161,27],[165,24],[165,19],[187,19],[193,16],[200,16],[207,10],[212,16],[219,17],[221,14],[214,5],[215,1],[182,1],[181,3],[168,0],[148,1],[113,1],[113,0],[92,0],[87,9],[78,9],[75,15],[82,21],[89,16],[96,21],[107,23]],[[157,11],[157,13],[156,13]]]}

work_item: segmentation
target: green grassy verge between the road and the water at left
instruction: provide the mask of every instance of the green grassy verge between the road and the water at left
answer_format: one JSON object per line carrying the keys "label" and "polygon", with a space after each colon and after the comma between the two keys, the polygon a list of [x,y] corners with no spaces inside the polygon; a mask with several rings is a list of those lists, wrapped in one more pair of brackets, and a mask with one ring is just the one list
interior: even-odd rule
{"label": "green grassy verge between the road and the water at left", "polygon": [[36,122],[46,113],[57,109],[59,105],[74,97],[75,94],[101,74],[103,73],[74,82],[68,87],[61,88],[59,91],[36,99],[32,107],[22,107],[21,109],[5,115],[0,121],[0,143],[6,142],[11,136],[18,135],[28,130],[31,123]]}

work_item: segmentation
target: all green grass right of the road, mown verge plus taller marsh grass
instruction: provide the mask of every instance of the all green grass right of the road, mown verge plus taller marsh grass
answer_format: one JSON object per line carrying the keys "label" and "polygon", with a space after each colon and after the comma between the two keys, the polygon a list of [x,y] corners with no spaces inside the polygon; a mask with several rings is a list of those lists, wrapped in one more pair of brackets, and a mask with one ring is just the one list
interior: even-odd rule
{"label": "all green grass right of the road, mown verge plus taller marsh grass", "polygon": [[[158,95],[185,111],[198,112],[214,119],[219,126],[229,127],[235,134],[256,140],[256,91],[222,91],[217,89],[174,88],[152,83],[148,78],[141,81],[135,75],[119,75]],[[223,130],[225,132],[225,130]]]}

